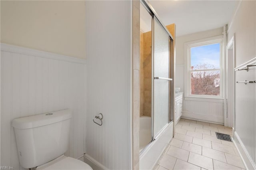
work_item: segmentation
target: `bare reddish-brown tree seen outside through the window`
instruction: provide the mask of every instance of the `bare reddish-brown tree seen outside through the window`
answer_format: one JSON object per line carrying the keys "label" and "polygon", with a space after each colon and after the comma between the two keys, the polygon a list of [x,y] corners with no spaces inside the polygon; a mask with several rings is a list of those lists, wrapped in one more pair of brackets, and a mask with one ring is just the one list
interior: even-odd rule
{"label": "bare reddish-brown tree seen outside through the window", "polygon": [[[214,68],[211,64],[198,64],[191,69],[191,94],[192,95],[220,95],[220,71],[206,71]],[[199,71],[204,70],[204,71]]]}

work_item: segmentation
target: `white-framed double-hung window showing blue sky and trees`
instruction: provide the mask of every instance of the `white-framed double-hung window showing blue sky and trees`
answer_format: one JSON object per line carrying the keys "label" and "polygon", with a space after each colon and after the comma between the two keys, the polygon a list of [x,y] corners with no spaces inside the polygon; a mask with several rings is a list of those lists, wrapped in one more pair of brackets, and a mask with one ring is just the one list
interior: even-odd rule
{"label": "white-framed double-hung window showing blue sky and trees", "polygon": [[223,36],[185,43],[186,97],[222,98]]}

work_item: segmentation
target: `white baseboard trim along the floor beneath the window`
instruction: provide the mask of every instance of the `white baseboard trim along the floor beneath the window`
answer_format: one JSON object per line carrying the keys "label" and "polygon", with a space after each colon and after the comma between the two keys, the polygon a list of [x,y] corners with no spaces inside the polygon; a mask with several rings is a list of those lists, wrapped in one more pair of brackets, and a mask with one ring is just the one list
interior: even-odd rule
{"label": "white baseboard trim along the floor beneath the window", "polygon": [[[202,117],[202,118],[200,119],[200,117]],[[205,117],[206,119],[203,119],[203,117]],[[221,123],[221,122],[209,121],[209,120],[207,120],[207,117],[209,117],[209,115],[200,115],[200,114],[196,114],[196,113],[190,113],[190,112],[187,112],[187,111],[182,111],[182,116],[180,118],[189,119],[189,120],[193,120],[193,121],[202,121],[202,122],[207,122],[207,123],[214,123],[214,124],[218,124],[218,125],[224,125],[224,123]],[[218,117],[216,117],[215,119],[218,119]]]}

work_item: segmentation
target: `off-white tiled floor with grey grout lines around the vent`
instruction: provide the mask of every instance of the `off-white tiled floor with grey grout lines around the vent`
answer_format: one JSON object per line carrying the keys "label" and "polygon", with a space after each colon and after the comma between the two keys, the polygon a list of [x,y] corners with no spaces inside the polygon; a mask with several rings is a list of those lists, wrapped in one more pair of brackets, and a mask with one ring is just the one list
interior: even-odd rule
{"label": "off-white tiled floor with grey grout lines around the vent", "polygon": [[232,136],[232,129],[223,125],[180,119],[176,135],[155,169],[244,170],[233,142],[217,139],[215,132]]}

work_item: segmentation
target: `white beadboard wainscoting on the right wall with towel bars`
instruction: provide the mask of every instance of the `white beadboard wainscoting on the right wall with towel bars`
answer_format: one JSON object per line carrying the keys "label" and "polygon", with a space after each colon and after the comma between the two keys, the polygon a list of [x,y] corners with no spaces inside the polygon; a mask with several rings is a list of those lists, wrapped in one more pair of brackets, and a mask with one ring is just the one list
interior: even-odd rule
{"label": "white beadboard wainscoting on the right wall with towel bars", "polygon": [[[255,81],[256,58],[235,68],[235,82]],[[256,83],[235,83],[235,134],[238,146],[248,169],[256,169]]]}

